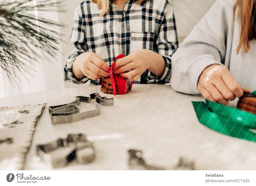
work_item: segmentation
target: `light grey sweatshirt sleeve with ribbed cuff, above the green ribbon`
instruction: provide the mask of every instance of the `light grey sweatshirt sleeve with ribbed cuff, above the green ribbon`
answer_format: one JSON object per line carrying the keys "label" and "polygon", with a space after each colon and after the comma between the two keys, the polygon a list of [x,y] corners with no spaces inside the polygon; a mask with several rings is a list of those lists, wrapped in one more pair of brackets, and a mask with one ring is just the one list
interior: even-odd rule
{"label": "light grey sweatshirt sleeve with ribbed cuff, above the green ribbon", "polygon": [[197,82],[207,66],[224,65],[232,38],[233,0],[217,0],[172,56],[171,86],[175,91],[198,94]]}

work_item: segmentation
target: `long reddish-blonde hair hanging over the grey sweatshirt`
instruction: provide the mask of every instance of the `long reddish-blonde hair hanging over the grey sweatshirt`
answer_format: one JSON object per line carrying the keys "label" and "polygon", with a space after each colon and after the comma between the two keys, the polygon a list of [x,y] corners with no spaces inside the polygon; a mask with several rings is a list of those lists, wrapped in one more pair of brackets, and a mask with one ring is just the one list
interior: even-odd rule
{"label": "long reddish-blonde hair hanging over the grey sweatshirt", "polygon": [[237,0],[234,12],[237,12],[238,18],[241,19],[240,41],[236,52],[238,54],[244,46],[244,52],[247,53],[250,49],[250,41],[256,39],[256,1]]}

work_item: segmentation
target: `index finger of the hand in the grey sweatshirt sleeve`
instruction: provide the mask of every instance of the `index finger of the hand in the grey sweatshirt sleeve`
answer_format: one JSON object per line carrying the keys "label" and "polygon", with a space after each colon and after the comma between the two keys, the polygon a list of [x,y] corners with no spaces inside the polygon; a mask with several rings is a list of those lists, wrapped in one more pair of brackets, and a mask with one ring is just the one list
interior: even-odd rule
{"label": "index finger of the hand in the grey sweatshirt sleeve", "polygon": [[[222,67],[224,68],[224,67]],[[244,92],[239,84],[236,82],[234,77],[229,73],[228,69],[225,69],[221,72],[221,78],[224,83],[227,85],[228,89],[233,92],[236,97],[243,96]]]}

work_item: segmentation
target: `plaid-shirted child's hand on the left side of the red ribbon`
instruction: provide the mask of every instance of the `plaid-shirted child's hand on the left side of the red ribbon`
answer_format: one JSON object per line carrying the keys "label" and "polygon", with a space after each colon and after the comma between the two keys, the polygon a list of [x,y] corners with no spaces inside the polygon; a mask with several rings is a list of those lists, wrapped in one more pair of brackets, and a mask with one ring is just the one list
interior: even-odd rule
{"label": "plaid-shirted child's hand on the left side of the red ribbon", "polygon": [[77,79],[82,79],[84,76],[97,80],[101,77],[108,77],[110,67],[104,60],[93,52],[85,52],[79,55],[73,62],[73,74]]}

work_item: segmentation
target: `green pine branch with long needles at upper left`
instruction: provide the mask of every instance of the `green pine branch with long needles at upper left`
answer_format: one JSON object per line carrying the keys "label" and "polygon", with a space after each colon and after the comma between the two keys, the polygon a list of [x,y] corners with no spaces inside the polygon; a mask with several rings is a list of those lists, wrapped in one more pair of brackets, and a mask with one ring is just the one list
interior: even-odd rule
{"label": "green pine branch with long needles at upper left", "polygon": [[[0,4],[0,68],[14,80],[17,71],[33,70],[41,50],[56,57],[62,42],[59,31],[64,24],[50,19],[35,18],[30,12],[66,12],[60,7],[63,0],[16,0]],[[56,31],[57,30],[57,31]]]}

